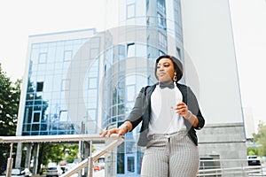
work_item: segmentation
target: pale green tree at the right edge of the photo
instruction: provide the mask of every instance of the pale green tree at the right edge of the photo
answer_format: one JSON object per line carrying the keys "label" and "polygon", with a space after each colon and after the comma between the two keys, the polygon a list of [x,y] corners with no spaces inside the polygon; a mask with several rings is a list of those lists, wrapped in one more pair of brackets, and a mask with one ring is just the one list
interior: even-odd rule
{"label": "pale green tree at the right edge of the photo", "polygon": [[257,147],[257,155],[260,157],[266,156],[266,124],[260,121],[258,125],[258,134],[254,134],[253,136],[254,142],[261,145]]}

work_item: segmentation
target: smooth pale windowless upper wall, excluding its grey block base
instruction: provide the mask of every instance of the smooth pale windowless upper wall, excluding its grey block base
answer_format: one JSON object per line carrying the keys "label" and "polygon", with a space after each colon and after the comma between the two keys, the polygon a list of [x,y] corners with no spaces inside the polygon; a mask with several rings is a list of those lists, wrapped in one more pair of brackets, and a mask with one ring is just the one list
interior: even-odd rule
{"label": "smooth pale windowless upper wall, excluding its grey block base", "polygon": [[243,122],[228,1],[182,0],[185,79],[207,124]]}

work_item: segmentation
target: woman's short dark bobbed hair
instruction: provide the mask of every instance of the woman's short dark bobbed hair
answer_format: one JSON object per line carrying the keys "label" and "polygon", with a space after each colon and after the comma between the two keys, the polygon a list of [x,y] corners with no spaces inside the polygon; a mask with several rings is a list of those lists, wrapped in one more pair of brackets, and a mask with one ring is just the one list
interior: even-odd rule
{"label": "woman's short dark bobbed hair", "polygon": [[157,77],[157,65],[160,61],[161,58],[168,58],[170,59],[173,64],[174,64],[174,68],[175,68],[175,71],[176,71],[176,82],[181,80],[182,76],[183,76],[183,65],[181,63],[181,61],[177,58],[175,58],[174,56],[169,56],[169,55],[162,55],[160,56],[159,58],[156,59],[156,62],[155,62],[155,77],[156,79],[158,80],[158,77]]}

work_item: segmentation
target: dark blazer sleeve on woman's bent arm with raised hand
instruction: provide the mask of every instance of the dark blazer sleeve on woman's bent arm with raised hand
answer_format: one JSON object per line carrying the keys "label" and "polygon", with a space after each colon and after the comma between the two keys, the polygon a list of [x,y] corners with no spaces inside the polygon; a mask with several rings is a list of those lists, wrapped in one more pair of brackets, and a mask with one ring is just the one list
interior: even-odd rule
{"label": "dark blazer sleeve on woman's bent arm with raised hand", "polygon": [[203,118],[201,112],[200,112],[200,106],[198,103],[198,100],[195,96],[195,94],[192,92],[192,89],[188,87],[188,108],[189,110],[197,116],[199,119],[199,124],[197,127],[194,127],[195,129],[201,129],[205,125],[205,119]]}

